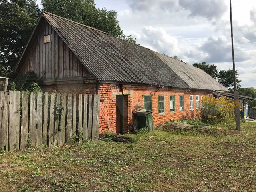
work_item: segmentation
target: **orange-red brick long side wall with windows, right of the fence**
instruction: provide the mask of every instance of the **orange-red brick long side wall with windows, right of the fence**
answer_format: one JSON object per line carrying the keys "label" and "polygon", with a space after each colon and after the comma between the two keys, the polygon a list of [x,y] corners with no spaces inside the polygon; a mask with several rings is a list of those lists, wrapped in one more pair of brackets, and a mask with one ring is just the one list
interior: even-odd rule
{"label": "orange-red brick long side wall with windows, right of the fence", "polygon": [[[132,111],[136,112],[144,108],[144,96],[152,95],[152,110],[154,126],[163,124],[166,121],[180,120],[182,118],[193,118],[197,115],[196,95],[207,95],[207,91],[186,90],[177,88],[156,88],[147,86],[124,85],[122,88],[115,84],[100,85],[98,94],[101,95],[100,102],[100,132],[116,130],[116,94],[128,96],[128,116],[124,117],[124,131],[128,132],[132,127],[134,116]],[[158,114],[158,96],[164,95],[165,113]],[[170,95],[175,95],[175,112],[170,112]],[[180,111],[180,95],[184,95],[184,111]],[[194,110],[190,110],[189,96],[193,95]]]}

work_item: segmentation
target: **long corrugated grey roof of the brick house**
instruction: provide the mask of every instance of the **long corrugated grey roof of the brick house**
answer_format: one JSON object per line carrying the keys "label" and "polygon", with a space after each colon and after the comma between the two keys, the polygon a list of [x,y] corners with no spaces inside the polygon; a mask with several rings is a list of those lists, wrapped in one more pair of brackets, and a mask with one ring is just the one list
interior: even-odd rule
{"label": "long corrugated grey roof of the brick house", "polygon": [[184,62],[48,12],[42,16],[99,82],[228,91]]}

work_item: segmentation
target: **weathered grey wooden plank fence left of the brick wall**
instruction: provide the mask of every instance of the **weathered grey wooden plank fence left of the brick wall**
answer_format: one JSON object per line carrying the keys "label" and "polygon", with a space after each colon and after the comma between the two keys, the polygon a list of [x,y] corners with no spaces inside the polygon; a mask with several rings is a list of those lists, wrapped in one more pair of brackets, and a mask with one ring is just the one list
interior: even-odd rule
{"label": "weathered grey wooden plank fence left of the brick wall", "polygon": [[0,91],[0,148],[61,146],[99,137],[99,95]]}

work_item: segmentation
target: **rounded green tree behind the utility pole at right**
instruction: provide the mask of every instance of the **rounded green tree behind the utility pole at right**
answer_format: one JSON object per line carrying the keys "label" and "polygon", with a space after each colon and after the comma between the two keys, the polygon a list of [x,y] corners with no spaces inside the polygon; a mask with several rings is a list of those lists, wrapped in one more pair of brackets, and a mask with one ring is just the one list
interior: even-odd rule
{"label": "rounded green tree behind the utility pole at right", "polygon": [[[239,89],[241,87],[240,83],[242,81],[240,81],[238,79],[238,72],[236,71],[236,86]],[[228,70],[220,70],[220,72],[218,73],[218,82],[220,84],[222,84],[224,87],[233,87],[234,86],[234,76],[233,76],[233,70],[232,69],[228,69]]]}

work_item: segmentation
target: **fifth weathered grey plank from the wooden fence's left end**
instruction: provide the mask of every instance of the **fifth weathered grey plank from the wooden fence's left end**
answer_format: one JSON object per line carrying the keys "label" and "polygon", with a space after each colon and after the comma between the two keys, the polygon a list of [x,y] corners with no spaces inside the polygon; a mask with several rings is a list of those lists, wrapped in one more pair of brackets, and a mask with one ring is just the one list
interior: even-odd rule
{"label": "fifth weathered grey plank from the wooden fence's left end", "polygon": [[36,146],[42,145],[42,116],[42,92],[38,92],[36,104]]}

